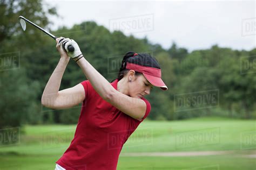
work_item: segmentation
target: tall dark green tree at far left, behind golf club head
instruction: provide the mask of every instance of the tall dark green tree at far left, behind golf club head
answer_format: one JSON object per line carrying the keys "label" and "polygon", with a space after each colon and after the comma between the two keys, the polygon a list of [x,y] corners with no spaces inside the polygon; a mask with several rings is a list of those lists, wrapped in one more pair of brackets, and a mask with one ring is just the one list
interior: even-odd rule
{"label": "tall dark green tree at far left, behind golf club head", "polygon": [[[40,83],[31,80],[27,76],[26,66],[28,60],[25,58],[32,51],[43,44],[42,33],[28,25],[27,31],[23,33],[18,21],[18,16],[29,18],[32,22],[41,26],[50,24],[48,15],[56,15],[55,8],[44,6],[42,1],[19,0],[0,1],[0,58],[1,58],[1,101],[0,101],[0,128],[6,126],[21,126],[22,123],[38,123],[41,118],[39,113],[41,105],[37,101],[40,93]],[[18,52],[18,66],[15,69],[3,69],[6,60],[5,53]]]}

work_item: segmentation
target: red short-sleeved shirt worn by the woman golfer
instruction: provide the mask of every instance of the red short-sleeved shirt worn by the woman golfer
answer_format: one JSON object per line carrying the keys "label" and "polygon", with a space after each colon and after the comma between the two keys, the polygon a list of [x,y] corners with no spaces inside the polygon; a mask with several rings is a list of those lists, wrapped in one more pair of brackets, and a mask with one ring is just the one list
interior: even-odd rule
{"label": "red short-sleeved shirt worn by the woman golfer", "polygon": [[[111,83],[115,89],[117,82]],[[150,103],[142,98],[146,103],[146,113],[139,121],[104,101],[89,81],[83,81],[82,85],[85,100],[75,137],[56,163],[68,170],[114,170],[125,141],[149,115]]]}

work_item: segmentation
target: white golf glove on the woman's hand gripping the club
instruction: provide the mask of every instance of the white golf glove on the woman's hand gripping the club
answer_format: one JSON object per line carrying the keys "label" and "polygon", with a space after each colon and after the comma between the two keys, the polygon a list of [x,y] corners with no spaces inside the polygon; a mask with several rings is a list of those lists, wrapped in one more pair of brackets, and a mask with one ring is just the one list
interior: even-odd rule
{"label": "white golf glove on the woman's hand gripping the club", "polygon": [[[75,61],[78,61],[79,59],[83,58],[83,54],[80,51],[80,48],[75,40],[65,38],[60,42],[62,47],[65,49],[66,53]],[[73,52],[70,52],[68,49],[68,46],[73,46],[75,50]]]}

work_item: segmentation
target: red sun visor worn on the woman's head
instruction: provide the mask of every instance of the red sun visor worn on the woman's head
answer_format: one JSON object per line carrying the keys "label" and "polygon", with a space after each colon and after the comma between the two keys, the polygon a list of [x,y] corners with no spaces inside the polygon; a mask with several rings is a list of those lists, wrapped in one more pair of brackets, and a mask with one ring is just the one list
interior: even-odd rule
{"label": "red sun visor worn on the woman's head", "polygon": [[162,90],[168,90],[164,81],[161,80],[161,69],[140,66],[129,62],[126,63],[126,69],[132,69],[136,72],[143,73],[147,81],[149,81],[153,86],[160,87]]}

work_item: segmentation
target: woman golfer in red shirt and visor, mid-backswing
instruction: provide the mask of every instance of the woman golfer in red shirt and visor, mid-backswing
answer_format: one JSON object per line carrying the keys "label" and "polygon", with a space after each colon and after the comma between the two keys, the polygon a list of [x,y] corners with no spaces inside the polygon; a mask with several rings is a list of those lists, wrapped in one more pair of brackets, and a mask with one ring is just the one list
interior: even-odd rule
{"label": "woman golfer in red shirt and visor, mid-backswing", "polygon": [[[113,170],[125,141],[149,115],[144,98],[153,86],[167,90],[158,62],[149,54],[126,53],[118,78],[109,83],[68,38],[56,39],[60,60],[42,95],[45,107],[70,108],[83,102],[75,137],[56,162],[56,169]],[[75,47],[74,52],[68,46]],[[88,80],[59,91],[70,57]],[[69,99],[72,100],[69,100]]]}

